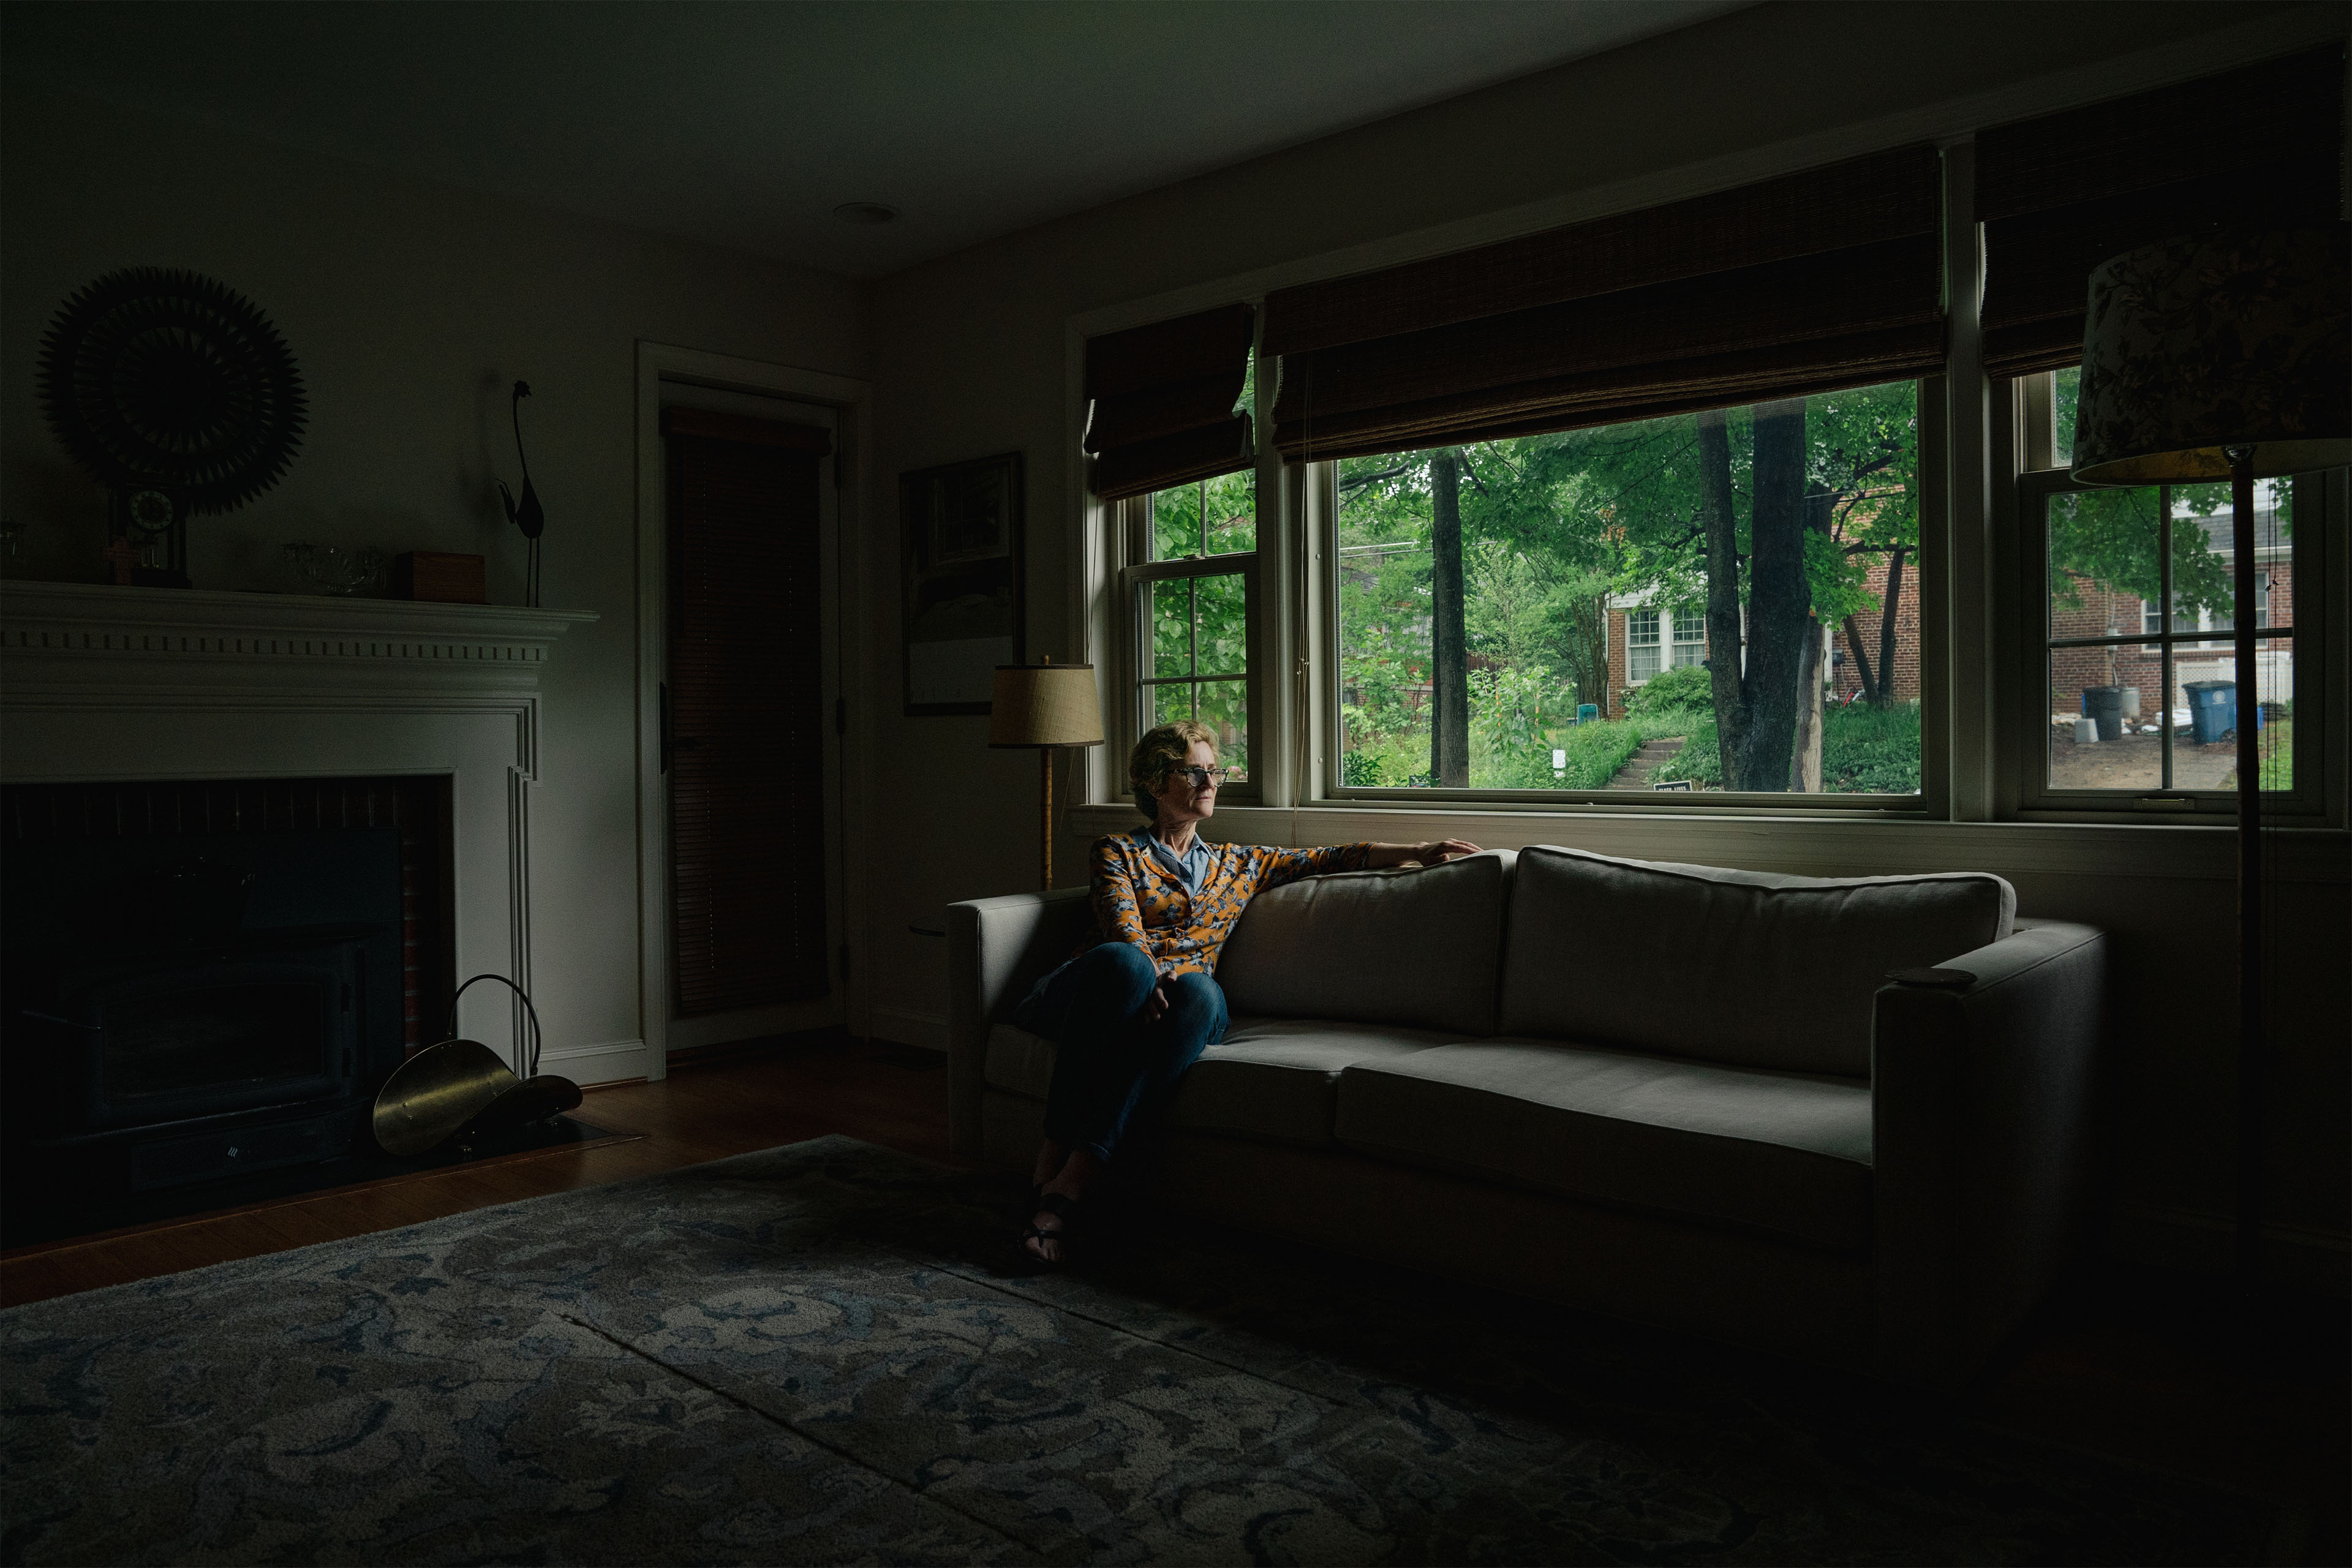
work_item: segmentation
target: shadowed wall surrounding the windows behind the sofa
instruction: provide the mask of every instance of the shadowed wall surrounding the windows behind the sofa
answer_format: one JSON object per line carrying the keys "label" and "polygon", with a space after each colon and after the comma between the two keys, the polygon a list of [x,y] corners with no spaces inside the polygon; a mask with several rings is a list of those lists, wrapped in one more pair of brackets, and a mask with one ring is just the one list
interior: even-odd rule
{"label": "shadowed wall surrounding the windows behind the sofa", "polygon": [[[2133,7],[2131,26],[2117,28],[2119,12],[2110,5],[1766,5],[1025,230],[877,284],[877,465],[894,473],[1021,449],[1030,475],[1030,656],[1077,658],[1084,649],[1070,588],[1080,569],[1073,520],[1082,482],[1068,428],[1073,317],[1423,228],[1475,226],[1505,209],[1769,143],[1825,139],[1837,127],[1917,115],[2030,78],[2067,71],[2077,80],[2098,78],[2100,61],[2126,49],[2171,47],[2194,68],[2201,33],[2265,26],[2310,33],[2317,9],[2326,7]],[[2336,21],[2319,26],[2340,28],[2340,14],[2328,14]],[[898,682],[894,550],[894,541],[877,541],[873,677],[882,693]],[[906,719],[887,703],[877,715],[873,773],[877,809],[901,823],[903,846],[889,889],[877,891],[875,971],[908,1016],[936,1018],[941,945],[908,926],[938,926],[941,905],[955,898],[1033,884],[1035,764],[1025,752],[985,750],[983,719]],[[1261,830],[1284,837],[1272,825]],[[1515,842],[1501,837],[1508,825],[1489,830],[1498,835],[1489,842]],[[1590,818],[1522,823],[1519,832],[1597,849],[1609,846],[1597,839],[1613,842]],[[1385,837],[1406,830],[1390,827]],[[1073,832],[1056,846],[1058,865],[1073,867],[1063,882],[1082,875],[1075,870],[1084,865],[1082,844],[1084,835]],[[1752,823],[1689,830],[1677,844],[1686,858],[1733,865],[1809,860],[1790,856],[1776,830]],[[2194,846],[2183,851],[2180,839],[2145,839],[2145,875],[2117,877],[2065,858],[2051,863],[2032,844],[2016,835],[1912,839],[1893,858],[1999,870],[2018,882],[2030,912],[2091,919],[2119,933],[2124,1020],[2112,1166],[2119,1204],[2131,1215],[2157,1215],[2159,1229],[2171,1227],[2166,1241],[2143,1251],[2201,1246],[2199,1234],[2216,1234],[2197,1229],[2201,1218],[2227,1208],[2232,1030],[2227,971],[2211,969],[2230,933],[2227,860]],[[1853,839],[1816,860],[1823,870],[1900,870],[1879,865],[1889,853],[1886,839]],[[2293,973],[2300,990],[2281,1020],[2291,1060],[2277,1095],[2272,1213],[2296,1237],[2317,1234],[2333,1260],[2324,1269],[2338,1269],[2347,1192],[2340,1023],[2352,1013],[2343,980],[2340,835],[2317,856],[2319,879],[2281,891],[2293,910],[2281,973]]]}

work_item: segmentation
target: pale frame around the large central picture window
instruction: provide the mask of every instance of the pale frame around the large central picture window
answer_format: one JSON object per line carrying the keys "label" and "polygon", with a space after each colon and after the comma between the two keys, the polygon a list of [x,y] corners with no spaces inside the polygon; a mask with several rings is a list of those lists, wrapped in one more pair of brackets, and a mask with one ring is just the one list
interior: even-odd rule
{"label": "pale frame around the large central picture window", "polygon": [[[1943,376],[1919,376],[1917,428],[1919,428],[1919,545],[1915,567],[1915,592],[1919,592],[1919,792],[1917,795],[1799,795],[1788,790],[1444,790],[1444,788],[1388,788],[1350,785],[1341,778],[1345,736],[1341,733],[1341,656],[1338,656],[1338,463],[1301,463],[1308,470],[1308,522],[1312,531],[1310,557],[1315,559],[1315,592],[1322,614],[1312,623],[1312,644],[1301,651],[1301,663],[1315,686],[1315,755],[1317,766],[1308,780],[1310,795],[1301,804],[1357,804],[1402,809],[1461,809],[1477,811],[1623,811],[1656,813],[1670,804],[1682,811],[1731,811],[1736,816],[1844,816],[1863,820],[1950,820],[1952,769],[1950,769],[1950,677],[1938,639],[1929,628],[1940,625],[1943,611],[1931,609],[1926,583],[1943,583],[1950,574],[1950,489],[1945,484],[1950,451],[1947,390]],[[1265,487],[1258,487],[1261,529],[1265,515]],[[1261,543],[1265,534],[1261,531]],[[1672,611],[1661,611],[1661,661],[1670,656],[1668,630]],[[1743,607],[1745,621],[1745,607]],[[1670,665],[1661,663],[1661,672]],[[1628,684],[1632,675],[1632,651],[1628,646]],[[1670,799],[1663,799],[1670,797]]]}

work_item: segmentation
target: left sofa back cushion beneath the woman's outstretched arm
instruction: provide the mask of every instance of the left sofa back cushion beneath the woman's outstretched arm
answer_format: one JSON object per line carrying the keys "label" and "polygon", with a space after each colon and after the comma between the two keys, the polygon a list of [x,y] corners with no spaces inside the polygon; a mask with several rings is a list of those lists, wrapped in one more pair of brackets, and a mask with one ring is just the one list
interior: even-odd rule
{"label": "left sofa back cushion beneath the woman's outstretched arm", "polygon": [[1491,851],[1258,893],[1216,961],[1225,1006],[1494,1034],[1510,863]]}

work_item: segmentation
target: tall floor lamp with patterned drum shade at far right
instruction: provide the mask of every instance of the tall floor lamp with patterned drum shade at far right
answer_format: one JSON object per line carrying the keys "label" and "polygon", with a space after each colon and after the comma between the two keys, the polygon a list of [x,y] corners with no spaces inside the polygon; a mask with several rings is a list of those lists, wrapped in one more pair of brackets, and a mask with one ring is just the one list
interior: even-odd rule
{"label": "tall floor lamp with patterned drum shade at far right", "polygon": [[[2091,273],[2084,484],[2230,480],[2237,578],[2237,1274],[2263,1251],[2263,764],[2253,482],[2352,463],[2352,226],[2216,233]],[[2164,607],[2171,616],[2171,607]],[[2251,698],[2251,701],[2249,701]],[[2166,710],[2171,698],[2166,696]],[[2343,693],[2336,693],[2343,712]],[[2169,719],[2166,719],[2169,722]]]}

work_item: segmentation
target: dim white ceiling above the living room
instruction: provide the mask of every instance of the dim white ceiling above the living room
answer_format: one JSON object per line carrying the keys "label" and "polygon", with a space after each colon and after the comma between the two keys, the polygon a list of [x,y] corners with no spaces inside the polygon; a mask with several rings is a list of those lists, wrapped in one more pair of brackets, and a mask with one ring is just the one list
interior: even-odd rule
{"label": "dim white ceiling above the living room", "polygon": [[1748,2],[9,0],[0,71],[870,277]]}

